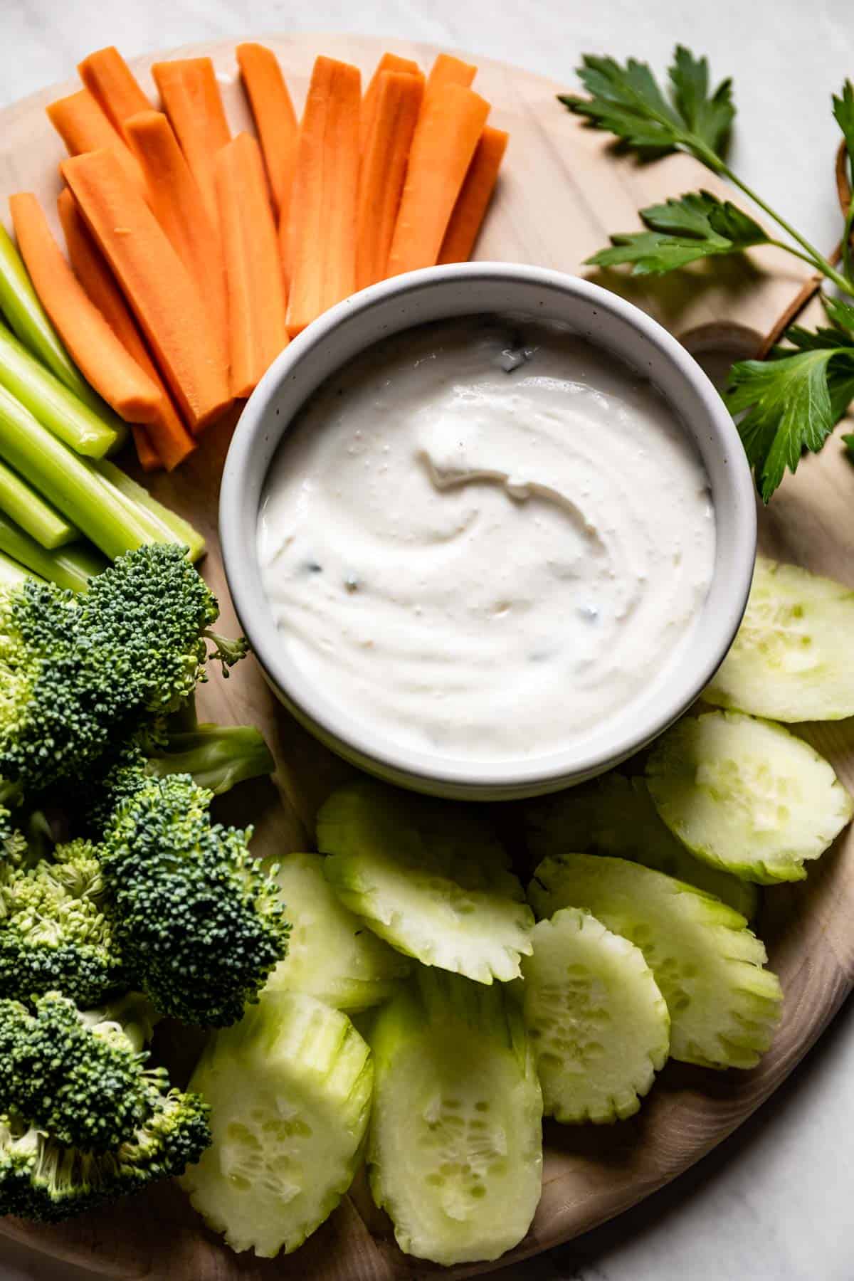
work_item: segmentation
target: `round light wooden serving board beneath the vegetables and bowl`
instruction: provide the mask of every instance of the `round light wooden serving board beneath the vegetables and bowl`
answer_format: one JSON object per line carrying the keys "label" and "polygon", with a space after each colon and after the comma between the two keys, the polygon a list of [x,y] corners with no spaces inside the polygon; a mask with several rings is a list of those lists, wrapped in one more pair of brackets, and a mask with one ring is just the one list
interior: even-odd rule
{"label": "round light wooden serving board beneath the vegetables and bowl", "polygon": [[[264,38],[264,37],[260,37]],[[315,54],[357,63],[370,73],[385,45],[330,36],[270,37],[300,106]],[[426,65],[435,50],[394,41],[392,47]],[[183,54],[210,54],[220,73],[234,128],[250,126],[236,83],[233,45],[204,44]],[[168,56],[168,55],[159,55]],[[136,61],[151,88],[149,67]],[[478,246],[481,259],[504,259],[583,272],[583,260],[608,232],[638,225],[636,210],[684,191],[723,190],[686,156],[639,165],[615,155],[606,136],[585,128],[554,101],[558,90],[536,76],[480,63],[475,87],[494,104],[493,120],[511,145],[488,224]],[[0,113],[0,195],[33,190],[51,216],[59,191],[61,146],[44,114],[72,83],[47,90]],[[3,201],[5,213],[5,200]],[[689,347],[737,343],[755,351],[798,295],[805,273],[777,250],[748,261],[689,269],[658,284],[624,275],[599,275],[665,323]],[[156,477],[157,497],[183,512],[209,539],[205,574],[223,603],[223,629],[233,628],[216,539],[219,477],[233,424],[209,432],[195,459],[174,477]],[[831,441],[802,464],[761,516],[763,548],[854,585],[854,470]],[[214,678],[200,697],[206,717],[254,722],[277,757],[271,781],[248,784],[224,798],[234,821],[254,821],[259,853],[284,853],[311,842],[319,802],[350,771],[300,730],[278,706],[250,658],[230,680]],[[805,735],[834,762],[854,790],[854,722],[805,726]],[[506,811],[504,811],[506,813]],[[854,842],[845,834],[798,886],[766,893],[758,933],[785,990],[782,1026],[772,1049],[752,1072],[714,1073],[670,1063],[640,1113],[612,1127],[545,1126],[543,1198],[530,1232],[502,1262],[521,1259],[594,1227],[641,1200],[703,1157],[776,1089],[827,1026],[854,983]],[[184,1067],[192,1061],[184,1045]],[[164,1050],[181,1058],[175,1044]],[[177,1075],[181,1071],[178,1063]],[[46,1254],[87,1266],[109,1277],[152,1281],[399,1281],[442,1269],[406,1258],[394,1245],[388,1220],[376,1212],[357,1180],[351,1194],[294,1255],[260,1261],[232,1254],[207,1232],[172,1185],[58,1227],[0,1221],[0,1232]],[[463,1277],[490,1266],[457,1268]]]}

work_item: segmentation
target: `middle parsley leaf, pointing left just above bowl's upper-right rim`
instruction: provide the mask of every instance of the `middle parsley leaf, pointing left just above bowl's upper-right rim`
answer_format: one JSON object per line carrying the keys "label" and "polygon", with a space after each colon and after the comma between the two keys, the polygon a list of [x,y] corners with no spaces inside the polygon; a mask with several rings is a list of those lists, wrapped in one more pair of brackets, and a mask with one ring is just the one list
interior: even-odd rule
{"label": "middle parsley leaf, pointing left just above bowl's upper-right rim", "polygon": [[631,263],[635,275],[662,274],[702,257],[740,254],[768,241],[759,223],[708,191],[650,205],[640,210],[640,216],[648,231],[612,236],[612,247],[599,250],[588,264]]}

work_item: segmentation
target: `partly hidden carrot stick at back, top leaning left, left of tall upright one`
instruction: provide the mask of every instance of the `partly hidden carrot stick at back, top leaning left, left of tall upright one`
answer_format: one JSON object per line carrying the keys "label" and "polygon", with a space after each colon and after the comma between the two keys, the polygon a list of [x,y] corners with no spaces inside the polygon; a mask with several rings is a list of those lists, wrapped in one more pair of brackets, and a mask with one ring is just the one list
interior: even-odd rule
{"label": "partly hidden carrot stick at back, top leaning left, left of tall upright one", "polygon": [[288,86],[275,54],[264,45],[238,45],[237,64],[261,140],[275,216],[287,218],[300,136]]}

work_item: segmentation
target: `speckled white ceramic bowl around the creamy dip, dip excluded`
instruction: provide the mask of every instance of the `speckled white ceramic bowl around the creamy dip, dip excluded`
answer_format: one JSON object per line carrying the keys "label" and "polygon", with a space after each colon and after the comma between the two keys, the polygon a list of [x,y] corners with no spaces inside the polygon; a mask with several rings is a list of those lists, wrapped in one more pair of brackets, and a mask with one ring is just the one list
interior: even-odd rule
{"label": "speckled white ceramic bowl around the creamy dip, dip excluded", "polygon": [[[526,313],[568,324],[649,377],[705,464],[717,518],[714,574],[695,643],[670,679],[632,701],[584,744],[538,758],[460,762],[373,734],[289,664],[261,587],[256,523],[264,482],[288,424],[329,375],[378,339],[452,316]],[[293,715],[341,756],[389,781],[446,797],[510,799],[602,772],[649,743],[700,693],[730,647],[750,588],[755,503],[732,420],[708,378],[659,324],[595,284],[506,263],[428,268],[375,284],[326,311],[273,363],[239,420],[220,497],[225,573],[241,624],[266,678]]]}

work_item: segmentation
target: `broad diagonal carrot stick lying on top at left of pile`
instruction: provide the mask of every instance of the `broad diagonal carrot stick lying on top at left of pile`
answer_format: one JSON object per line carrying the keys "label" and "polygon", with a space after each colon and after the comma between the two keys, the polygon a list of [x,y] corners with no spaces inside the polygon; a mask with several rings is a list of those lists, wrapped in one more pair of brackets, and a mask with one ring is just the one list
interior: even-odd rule
{"label": "broad diagonal carrot stick lying on top at left of pile", "polygon": [[122,286],[178,407],[197,433],[230,404],[228,369],[196,282],[109,151],[61,173]]}

